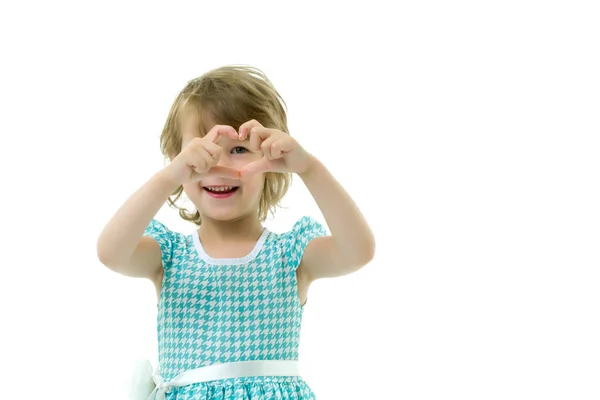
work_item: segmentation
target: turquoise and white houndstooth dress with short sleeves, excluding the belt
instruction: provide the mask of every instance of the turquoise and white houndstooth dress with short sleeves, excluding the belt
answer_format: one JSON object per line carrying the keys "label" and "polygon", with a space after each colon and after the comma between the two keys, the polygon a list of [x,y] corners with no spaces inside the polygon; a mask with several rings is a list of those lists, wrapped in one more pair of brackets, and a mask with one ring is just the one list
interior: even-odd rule
{"label": "turquoise and white houndstooth dress with short sleeves, excluding the belt", "polygon": [[[160,245],[158,363],[166,381],[217,363],[298,360],[303,307],[296,268],[308,242],[327,235],[302,217],[291,231],[264,229],[250,254],[210,257],[197,231],[183,235],[152,220],[144,235]],[[314,399],[299,376],[244,377],[174,388],[166,400]]]}

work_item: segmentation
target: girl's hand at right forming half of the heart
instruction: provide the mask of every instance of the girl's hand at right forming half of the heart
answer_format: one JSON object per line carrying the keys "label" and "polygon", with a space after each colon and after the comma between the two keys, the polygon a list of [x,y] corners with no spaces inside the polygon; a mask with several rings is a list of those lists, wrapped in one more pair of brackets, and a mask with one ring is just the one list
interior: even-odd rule
{"label": "girl's hand at right forming half of the heart", "polygon": [[250,148],[261,150],[260,160],[247,164],[242,176],[262,172],[301,174],[310,167],[313,158],[298,142],[285,132],[269,129],[251,120],[240,126],[240,140],[250,136]]}

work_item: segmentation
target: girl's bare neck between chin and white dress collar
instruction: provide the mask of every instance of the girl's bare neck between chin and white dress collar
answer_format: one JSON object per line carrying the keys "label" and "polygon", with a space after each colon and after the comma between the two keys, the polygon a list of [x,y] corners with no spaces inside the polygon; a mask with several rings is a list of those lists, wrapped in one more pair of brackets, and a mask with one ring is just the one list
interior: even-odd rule
{"label": "girl's bare neck between chin and white dress collar", "polygon": [[232,221],[219,221],[202,217],[198,235],[202,241],[231,242],[256,240],[263,232],[263,226],[256,217],[243,217]]}

